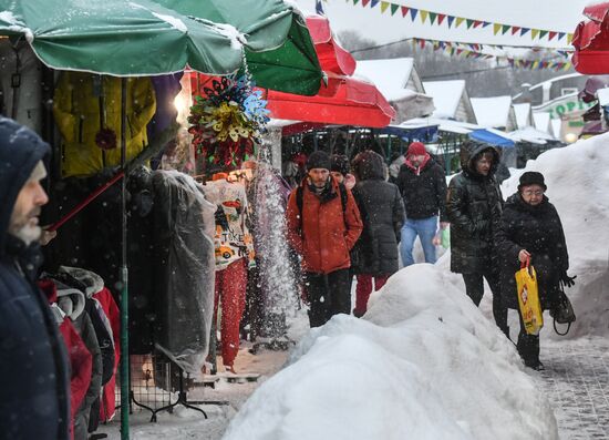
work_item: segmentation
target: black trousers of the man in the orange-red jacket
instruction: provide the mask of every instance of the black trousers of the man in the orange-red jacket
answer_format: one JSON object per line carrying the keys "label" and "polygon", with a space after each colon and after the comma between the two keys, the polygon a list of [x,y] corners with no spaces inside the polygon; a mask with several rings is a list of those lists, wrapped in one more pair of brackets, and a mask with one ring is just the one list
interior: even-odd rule
{"label": "black trousers of the man in the orange-red jacket", "polygon": [[304,274],[304,289],[311,305],[309,325],[320,327],[338,314],[351,313],[351,276],[349,269],[330,274]]}

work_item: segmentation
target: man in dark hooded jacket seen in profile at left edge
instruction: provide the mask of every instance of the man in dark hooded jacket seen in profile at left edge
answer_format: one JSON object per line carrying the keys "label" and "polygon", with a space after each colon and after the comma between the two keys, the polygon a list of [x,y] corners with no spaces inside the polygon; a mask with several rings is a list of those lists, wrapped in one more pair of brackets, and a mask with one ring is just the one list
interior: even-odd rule
{"label": "man in dark hooded jacket seen in profile at left edge", "polygon": [[35,133],[0,117],[0,437],[11,440],[69,438],[68,357],[34,285],[48,153]]}

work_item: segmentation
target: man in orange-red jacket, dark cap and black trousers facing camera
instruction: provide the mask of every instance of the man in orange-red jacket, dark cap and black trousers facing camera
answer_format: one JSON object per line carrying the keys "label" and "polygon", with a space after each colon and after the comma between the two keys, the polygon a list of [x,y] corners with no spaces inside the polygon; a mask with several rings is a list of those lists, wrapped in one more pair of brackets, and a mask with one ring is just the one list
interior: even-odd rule
{"label": "man in orange-red jacket, dark cap and black trousers facing camera", "polygon": [[307,160],[307,177],[288,201],[288,242],[302,257],[311,327],[351,311],[349,252],[362,229],[351,191],[331,175],[331,158],[322,151]]}

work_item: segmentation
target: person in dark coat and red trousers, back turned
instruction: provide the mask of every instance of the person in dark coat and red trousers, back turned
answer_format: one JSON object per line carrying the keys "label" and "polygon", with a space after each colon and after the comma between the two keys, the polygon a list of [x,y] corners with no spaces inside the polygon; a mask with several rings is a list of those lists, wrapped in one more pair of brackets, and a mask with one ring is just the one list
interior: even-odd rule
{"label": "person in dark coat and red trousers, back turned", "polygon": [[355,244],[359,258],[354,267],[358,285],[353,315],[360,317],[367,310],[372,279],[374,290],[379,290],[398,272],[398,243],[405,214],[400,190],[384,181],[381,155],[367,150],[353,160],[353,168],[358,180],[353,197],[363,222],[362,235]]}

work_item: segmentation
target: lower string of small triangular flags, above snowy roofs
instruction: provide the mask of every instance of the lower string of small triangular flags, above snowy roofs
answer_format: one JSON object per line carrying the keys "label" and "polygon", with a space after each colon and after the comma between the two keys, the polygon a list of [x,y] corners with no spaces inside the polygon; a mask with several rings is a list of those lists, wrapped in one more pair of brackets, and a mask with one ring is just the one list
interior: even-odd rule
{"label": "lower string of small triangular flags, above snowy roofs", "polygon": [[[445,53],[454,57],[464,57],[467,59],[475,60],[491,60],[493,58],[506,60],[508,64],[517,69],[528,69],[528,70],[541,70],[541,69],[551,69],[555,71],[569,70],[571,63],[569,61],[545,61],[545,60],[526,60],[508,55],[496,55],[489,53],[483,53],[482,50],[485,45],[489,44],[478,44],[478,43],[455,43],[451,41],[441,41],[441,40],[429,40],[422,38],[413,38],[412,44],[414,48],[424,49],[426,47],[432,47],[434,51],[444,50]],[[502,47],[495,45],[494,48],[502,49]],[[566,51],[557,51],[561,55],[568,57],[569,53]]]}

